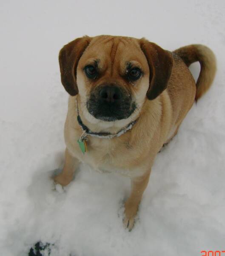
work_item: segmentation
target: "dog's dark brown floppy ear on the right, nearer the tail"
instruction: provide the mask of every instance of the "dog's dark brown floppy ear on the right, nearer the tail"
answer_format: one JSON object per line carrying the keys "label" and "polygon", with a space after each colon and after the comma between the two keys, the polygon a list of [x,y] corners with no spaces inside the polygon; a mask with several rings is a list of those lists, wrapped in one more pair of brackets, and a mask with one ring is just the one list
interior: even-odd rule
{"label": "dog's dark brown floppy ear on the right, nearer the tail", "polygon": [[148,99],[155,99],[167,87],[173,58],[169,52],[145,38],[140,39],[140,47],[147,58],[150,71],[149,88],[146,96]]}

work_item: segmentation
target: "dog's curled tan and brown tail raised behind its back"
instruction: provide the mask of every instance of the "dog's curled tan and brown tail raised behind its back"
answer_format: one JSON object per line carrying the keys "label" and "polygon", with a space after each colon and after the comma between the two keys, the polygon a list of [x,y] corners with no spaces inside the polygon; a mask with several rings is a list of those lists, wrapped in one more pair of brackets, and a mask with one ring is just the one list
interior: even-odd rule
{"label": "dog's curled tan and brown tail raised behind its back", "polygon": [[189,67],[191,63],[199,61],[201,70],[196,83],[197,101],[211,86],[216,74],[216,57],[208,47],[201,44],[191,44],[174,51]]}

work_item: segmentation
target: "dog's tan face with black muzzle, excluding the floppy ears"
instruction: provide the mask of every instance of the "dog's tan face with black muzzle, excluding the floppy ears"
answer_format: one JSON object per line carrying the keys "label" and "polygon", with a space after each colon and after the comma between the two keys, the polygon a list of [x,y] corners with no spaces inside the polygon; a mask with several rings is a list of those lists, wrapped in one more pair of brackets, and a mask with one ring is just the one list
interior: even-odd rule
{"label": "dog's tan face with black muzzle, excluding the floppy ears", "polygon": [[96,119],[127,119],[146,98],[149,68],[132,38],[95,38],[77,65],[81,101]]}

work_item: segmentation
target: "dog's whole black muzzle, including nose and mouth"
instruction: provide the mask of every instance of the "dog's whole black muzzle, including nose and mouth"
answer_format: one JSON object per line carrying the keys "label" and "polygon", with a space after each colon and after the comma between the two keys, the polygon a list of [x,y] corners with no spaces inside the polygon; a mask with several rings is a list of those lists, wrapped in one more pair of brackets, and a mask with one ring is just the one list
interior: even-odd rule
{"label": "dog's whole black muzzle, including nose and mouth", "polygon": [[91,92],[87,101],[89,113],[103,121],[128,118],[136,109],[131,93],[117,85],[101,85]]}

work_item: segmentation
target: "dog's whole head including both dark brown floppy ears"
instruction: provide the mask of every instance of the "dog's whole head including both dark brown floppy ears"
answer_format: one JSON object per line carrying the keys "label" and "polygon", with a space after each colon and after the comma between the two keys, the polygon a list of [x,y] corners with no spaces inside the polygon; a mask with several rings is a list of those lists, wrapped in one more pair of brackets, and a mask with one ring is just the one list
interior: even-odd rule
{"label": "dog's whole head including both dark brown floppy ears", "polygon": [[145,39],[85,36],[59,55],[61,81],[96,119],[127,119],[167,87],[173,59]]}

